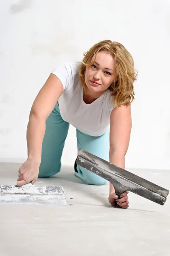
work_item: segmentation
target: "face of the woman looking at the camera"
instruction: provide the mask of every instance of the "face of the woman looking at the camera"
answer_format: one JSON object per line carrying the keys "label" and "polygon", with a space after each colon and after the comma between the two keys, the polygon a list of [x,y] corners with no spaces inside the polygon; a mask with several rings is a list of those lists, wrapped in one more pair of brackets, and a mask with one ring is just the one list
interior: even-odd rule
{"label": "face of the woman looking at the camera", "polygon": [[98,52],[94,64],[86,67],[84,79],[87,88],[93,93],[107,90],[114,81],[113,67],[112,55],[107,52]]}

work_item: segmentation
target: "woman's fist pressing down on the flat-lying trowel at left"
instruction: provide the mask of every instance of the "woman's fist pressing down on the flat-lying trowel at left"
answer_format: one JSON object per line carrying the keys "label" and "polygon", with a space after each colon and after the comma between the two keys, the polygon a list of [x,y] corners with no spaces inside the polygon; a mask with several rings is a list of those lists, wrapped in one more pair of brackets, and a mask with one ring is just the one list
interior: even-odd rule
{"label": "woman's fist pressing down on the flat-lying trowel at left", "polygon": [[18,171],[17,186],[23,186],[29,182],[35,183],[39,173],[40,163],[35,160],[26,160]]}

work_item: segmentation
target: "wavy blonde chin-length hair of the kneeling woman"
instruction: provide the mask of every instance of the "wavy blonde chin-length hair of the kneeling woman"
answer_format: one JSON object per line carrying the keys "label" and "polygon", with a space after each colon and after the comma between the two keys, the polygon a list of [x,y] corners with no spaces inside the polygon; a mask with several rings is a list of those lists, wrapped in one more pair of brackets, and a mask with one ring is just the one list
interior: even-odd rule
{"label": "wavy blonde chin-length hair of the kneeling woman", "polygon": [[[134,69],[132,55],[122,44],[118,42],[104,40],[93,45],[84,53],[84,58],[78,68],[79,78],[84,90],[86,91],[84,79],[86,66],[94,64],[96,55],[100,51],[110,53],[115,61],[113,71],[116,74],[116,79],[108,88],[112,91],[111,96],[113,96],[115,106],[120,107],[121,105],[130,105],[130,103],[135,99],[133,83],[137,80],[138,73]],[[92,61],[93,56],[95,56],[94,61]]]}

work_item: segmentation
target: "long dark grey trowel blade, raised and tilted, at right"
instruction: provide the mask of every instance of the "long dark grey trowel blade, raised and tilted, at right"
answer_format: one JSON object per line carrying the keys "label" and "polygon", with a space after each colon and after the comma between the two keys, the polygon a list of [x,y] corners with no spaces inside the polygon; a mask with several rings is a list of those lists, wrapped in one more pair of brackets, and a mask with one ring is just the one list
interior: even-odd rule
{"label": "long dark grey trowel blade, raised and tilted, at right", "polygon": [[78,148],[77,164],[113,184],[115,193],[131,191],[157,204],[164,205],[169,190],[128,172],[89,152]]}

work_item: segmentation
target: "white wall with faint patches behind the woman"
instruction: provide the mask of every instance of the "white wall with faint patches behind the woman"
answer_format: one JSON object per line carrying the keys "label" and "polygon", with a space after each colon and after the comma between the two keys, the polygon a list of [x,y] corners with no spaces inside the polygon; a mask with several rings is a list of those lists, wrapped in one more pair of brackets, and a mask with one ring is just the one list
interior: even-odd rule
{"label": "white wall with faint patches behind the woman", "polygon": [[[127,168],[170,169],[170,0],[0,0],[0,161],[26,160],[29,111],[51,70],[111,39],[138,81]],[[77,154],[71,126],[63,164]]]}

